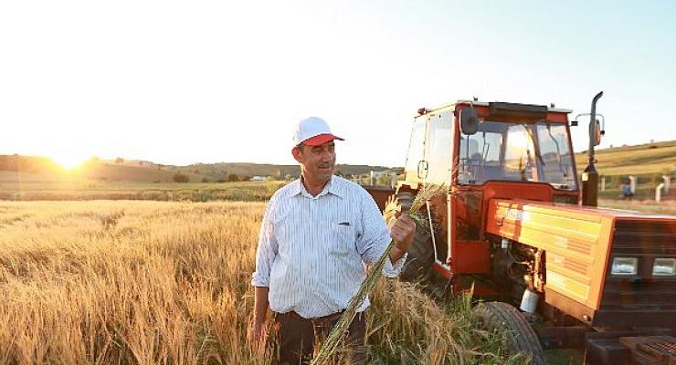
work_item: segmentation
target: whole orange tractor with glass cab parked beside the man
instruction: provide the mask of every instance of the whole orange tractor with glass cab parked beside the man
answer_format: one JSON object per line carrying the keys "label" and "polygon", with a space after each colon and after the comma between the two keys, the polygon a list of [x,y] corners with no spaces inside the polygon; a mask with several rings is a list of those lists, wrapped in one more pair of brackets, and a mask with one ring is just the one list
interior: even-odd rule
{"label": "whole orange tractor with glass cab parked beside the man", "polygon": [[510,329],[533,364],[565,347],[592,364],[676,363],[676,217],[596,207],[601,95],[580,180],[571,110],[460,100],[418,110],[404,181],[367,190],[406,209],[425,184],[449,187],[428,202],[402,276],[473,287],[485,325]]}

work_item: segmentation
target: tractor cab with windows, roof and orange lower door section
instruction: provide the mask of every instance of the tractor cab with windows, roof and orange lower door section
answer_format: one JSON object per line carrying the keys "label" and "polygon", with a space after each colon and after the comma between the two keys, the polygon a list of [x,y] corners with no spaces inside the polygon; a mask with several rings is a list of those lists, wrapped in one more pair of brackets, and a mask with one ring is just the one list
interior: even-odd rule
{"label": "tractor cab with windows, roof and orange lower door section", "polygon": [[577,203],[570,112],[479,101],[418,110],[399,192],[432,183],[449,186],[449,194],[429,202],[430,224],[438,227],[430,237],[434,255],[411,271],[429,264],[442,276],[487,273],[491,199]]}

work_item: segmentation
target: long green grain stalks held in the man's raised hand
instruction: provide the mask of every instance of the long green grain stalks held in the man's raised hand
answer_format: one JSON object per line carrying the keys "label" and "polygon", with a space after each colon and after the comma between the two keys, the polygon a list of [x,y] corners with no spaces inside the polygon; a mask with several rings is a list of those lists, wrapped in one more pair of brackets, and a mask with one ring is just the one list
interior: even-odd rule
{"label": "long green grain stalks held in the man's raised hand", "polygon": [[[403,212],[403,214],[407,214],[411,219],[417,222],[423,222],[424,217],[419,213],[420,209],[425,206],[425,203],[427,203],[429,199],[440,193],[445,193],[445,191],[445,185],[426,184],[416,194],[416,198],[413,200],[411,208],[408,210],[408,212]],[[385,266],[387,257],[389,256],[390,250],[392,249],[392,245],[394,245],[394,241],[390,241],[383,255],[380,256],[378,261],[375,263],[375,266],[372,267],[369,275],[366,276],[362,286],[359,287],[359,290],[354,295],[354,297],[350,299],[350,303],[348,304],[347,308],[345,308],[343,315],[333,327],[326,340],[324,340],[322,343],[322,348],[317,352],[317,355],[312,360],[312,365],[323,364],[329,360],[337,348],[338,343],[343,338],[343,334],[347,328],[350,327],[350,324],[354,320],[354,316],[356,316],[356,309],[359,308],[362,303],[364,303],[364,299],[368,293],[373,290],[375,283],[377,283],[378,279],[380,278],[383,271],[383,266]]]}

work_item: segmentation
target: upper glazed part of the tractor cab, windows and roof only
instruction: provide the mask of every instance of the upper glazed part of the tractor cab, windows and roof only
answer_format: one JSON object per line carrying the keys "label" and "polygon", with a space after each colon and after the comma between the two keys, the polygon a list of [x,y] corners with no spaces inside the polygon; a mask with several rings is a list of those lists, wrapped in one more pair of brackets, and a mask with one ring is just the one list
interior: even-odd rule
{"label": "upper glazed part of the tractor cab, windows and roof only", "polygon": [[407,154],[407,183],[546,183],[557,191],[578,191],[570,110],[459,101],[418,112]]}

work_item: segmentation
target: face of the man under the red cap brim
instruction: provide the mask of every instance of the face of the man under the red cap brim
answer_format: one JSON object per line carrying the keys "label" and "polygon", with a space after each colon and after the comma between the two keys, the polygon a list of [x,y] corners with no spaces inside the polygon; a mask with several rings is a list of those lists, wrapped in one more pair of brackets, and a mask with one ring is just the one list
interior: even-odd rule
{"label": "face of the man under the red cap brim", "polygon": [[335,145],[328,141],[319,146],[303,146],[294,153],[301,163],[303,178],[312,183],[327,183],[335,167]]}

